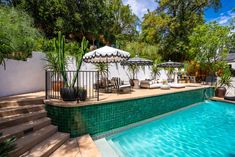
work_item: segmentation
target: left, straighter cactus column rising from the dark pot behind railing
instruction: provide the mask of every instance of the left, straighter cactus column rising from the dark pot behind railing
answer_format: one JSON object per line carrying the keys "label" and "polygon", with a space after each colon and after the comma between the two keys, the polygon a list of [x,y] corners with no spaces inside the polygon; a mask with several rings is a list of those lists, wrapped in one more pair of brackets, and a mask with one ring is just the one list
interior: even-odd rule
{"label": "left, straighter cactus column rising from the dark pot behind railing", "polygon": [[58,32],[58,39],[54,39],[54,46],[55,46],[55,53],[58,56],[58,69],[59,73],[62,75],[64,79],[65,86],[68,86],[68,79],[66,75],[66,66],[67,66],[67,60],[65,55],[65,37],[61,34],[61,32]]}

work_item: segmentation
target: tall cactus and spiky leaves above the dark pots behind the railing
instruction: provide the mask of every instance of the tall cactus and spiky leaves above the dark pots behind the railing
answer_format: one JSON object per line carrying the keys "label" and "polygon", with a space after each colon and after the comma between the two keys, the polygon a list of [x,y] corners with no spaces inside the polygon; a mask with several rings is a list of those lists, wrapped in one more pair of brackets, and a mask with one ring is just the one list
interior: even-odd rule
{"label": "tall cactus and spiky leaves above the dark pots behind the railing", "polygon": [[[80,47],[75,42],[65,43],[65,37],[61,32],[58,33],[58,38],[54,38],[52,41],[54,43],[53,48],[51,46],[51,40],[43,43],[46,45],[44,47],[45,50],[49,50],[49,52],[46,53],[46,61],[48,63],[46,68],[53,70],[57,74],[61,74],[66,86],[74,87],[78,77],[78,71],[82,65],[82,58],[88,52],[88,41],[84,37]],[[44,48],[42,46],[42,49]],[[77,71],[73,76],[71,84],[68,84],[68,78],[66,74],[69,56],[75,58]]]}

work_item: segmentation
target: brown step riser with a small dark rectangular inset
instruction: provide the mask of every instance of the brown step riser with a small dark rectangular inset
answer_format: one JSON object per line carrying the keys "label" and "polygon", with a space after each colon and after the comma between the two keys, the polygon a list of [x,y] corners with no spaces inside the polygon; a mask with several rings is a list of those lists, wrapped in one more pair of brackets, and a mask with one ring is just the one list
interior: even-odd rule
{"label": "brown step riser with a small dark rectangular inset", "polygon": [[32,133],[33,131],[39,130],[50,124],[51,119],[48,117],[44,117],[41,119],[29,121],[16,126],[2,129],[0,130],[0,132],[2,133],[2,136],[0,136],[0,142],[13,136],[16,138],[20,138],[22,136],[25,136],[26,134]]}

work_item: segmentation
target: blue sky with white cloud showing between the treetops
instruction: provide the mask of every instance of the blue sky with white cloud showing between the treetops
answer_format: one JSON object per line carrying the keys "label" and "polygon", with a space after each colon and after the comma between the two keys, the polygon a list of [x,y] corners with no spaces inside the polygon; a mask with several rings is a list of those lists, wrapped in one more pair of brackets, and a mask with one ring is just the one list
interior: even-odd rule
{"label": "blue sky with white cloud showing between the treetops", "polygon": [[[135,13],[140,20],[142,20],[147,9],[150,11],[158,7],[155,0],[123,0],[124,4],[129,4],[133,13]],[[206,9],[205,20],[206,22],[217,21],[220,25],[228,25],[232,17],[235,17],[235,0],[221,0],[222,7],[216,12],[214,9]]]}

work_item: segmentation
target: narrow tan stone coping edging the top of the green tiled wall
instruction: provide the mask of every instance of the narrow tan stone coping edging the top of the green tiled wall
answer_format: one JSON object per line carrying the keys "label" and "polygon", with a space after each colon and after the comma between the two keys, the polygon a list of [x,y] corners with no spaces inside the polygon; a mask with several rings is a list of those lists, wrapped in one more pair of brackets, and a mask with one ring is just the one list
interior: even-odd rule
{"label": "narrow tan stone coping edging the top of the green tiled wall", "polygon": [[187,87],[187,88],[185,88],[185,90],[181,90],[181,91],[169,91],[168,93],[156,93],[156,94],[145,95],[145,96],[120,98],[120,99],[104,100],[104,101],[94,101],[94,102],[87,102],[87,103],[86,102],[77,103],[76,101],[64,102],[62,100],[56,100],[56,99],[46,99],[46,100],[44,100],[44,103],[47,105],[64,107],[64,108],[83,107],[83,106],[92,106],[92,105],[109,104],[109,103],[115,103],[115,102],[123,102],[123,101],[127,101],[127,100],[138,100],[138,99],[144,99],[144,98],[162,96],[162,95],[171,95],[171,94],[175,94],[175,93],[182,93],[182,92],[194,91],[194,90],[206,89],[206,88],[213,88],[213,86],[198,86],[198,87],[194,87],[193,89],[191,89],[190,87]]}

